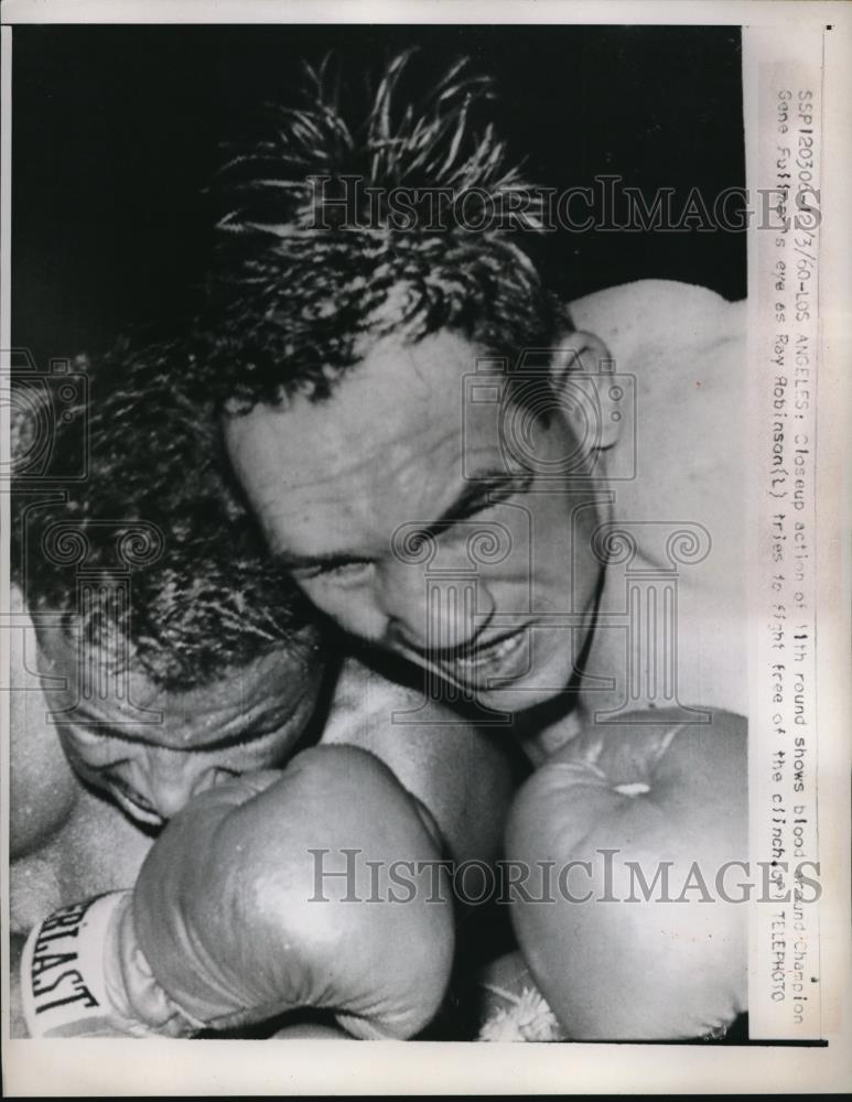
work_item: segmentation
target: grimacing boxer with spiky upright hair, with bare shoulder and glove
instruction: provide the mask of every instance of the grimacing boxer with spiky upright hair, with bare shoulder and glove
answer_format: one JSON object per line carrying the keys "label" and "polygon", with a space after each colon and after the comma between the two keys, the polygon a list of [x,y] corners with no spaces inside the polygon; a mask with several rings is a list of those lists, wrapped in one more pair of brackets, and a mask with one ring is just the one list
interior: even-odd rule
{"label": "grimacing boxer with spiky upright hair, with bare shoulder and glove", "polygon": [[[606,849],[712,875],[747,853],[744,305],[659,280],[558,302],[468,74],[417,95],[400,55],[365,104],[328,63],[235,151],[197,386],[313,604],[513,717],[537,769],[509,857],[589,862],[592,896]],[[744,907],[513,916],[570,1037],[745,1009]]]}

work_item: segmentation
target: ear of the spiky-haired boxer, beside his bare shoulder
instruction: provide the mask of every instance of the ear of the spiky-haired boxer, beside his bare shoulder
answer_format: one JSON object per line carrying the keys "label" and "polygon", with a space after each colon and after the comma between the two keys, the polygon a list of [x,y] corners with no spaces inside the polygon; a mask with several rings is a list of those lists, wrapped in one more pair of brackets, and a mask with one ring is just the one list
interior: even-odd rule
{"label": "ear of the spiky-haired boxer, beside his bare shoulder", "polygon": [[589,437],[593,451],[612,447],[621,434],[621,395],[610,381],[613,371],[615,361],[603,341],[581,329],[564,334],[550,361],[551,386],[565,420],[578,440]]}

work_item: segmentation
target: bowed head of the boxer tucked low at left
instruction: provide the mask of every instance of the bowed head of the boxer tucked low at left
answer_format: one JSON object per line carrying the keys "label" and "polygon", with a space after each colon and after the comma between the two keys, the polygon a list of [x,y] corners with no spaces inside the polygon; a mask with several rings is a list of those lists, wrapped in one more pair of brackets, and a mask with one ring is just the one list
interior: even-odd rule
{"label": "bowed head of the boxer tucked low at left", "polygon": [[223,482],[215,422],[180,396],[186,358],[120,344],[83,365],[89,397],[57,423],[53,468],[74,469],[83,424],[87,477],[21,491],[14,509],[15,581],[65,754],[152,828],[282,766],[323,676],[308,603]]}

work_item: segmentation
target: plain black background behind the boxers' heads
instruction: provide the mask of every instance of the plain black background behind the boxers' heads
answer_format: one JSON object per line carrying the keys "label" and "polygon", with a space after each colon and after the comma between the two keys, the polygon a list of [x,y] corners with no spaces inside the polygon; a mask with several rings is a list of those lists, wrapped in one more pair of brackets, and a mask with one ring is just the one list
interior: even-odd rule
{"label": "plain black background behind the boxers' heads", "polygon": [[[527,173],[558,188],[615,174],[650,202],[744,185],[740,31],[654,26],[17,26],[12,337],[40,366],[128,324],[180,316],[209,250],[201,191],[247,112],[291,101],[302,58],[353,71],[417,43],[498,83]],[[578,216],[582,207],[573,208]],[[745,233],[558,233],[540,248],[573,298],[634,279],[745,293]]]}

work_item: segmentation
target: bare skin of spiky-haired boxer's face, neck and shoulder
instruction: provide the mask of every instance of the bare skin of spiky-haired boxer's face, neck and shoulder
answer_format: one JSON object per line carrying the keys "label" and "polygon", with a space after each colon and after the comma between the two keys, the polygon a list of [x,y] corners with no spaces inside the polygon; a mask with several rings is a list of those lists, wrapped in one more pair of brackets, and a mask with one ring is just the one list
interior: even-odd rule
{"label": "bare skin of spiky-haired boxer's face, neck and shoulder", "polygon": [[[536,761],[593,710],[744,713],[745,525],[731,496],[744,310],[657,280],[579,300],[578,329],[551,356],[548,420],[473,402],[482,350],[455,334],[384,338],[330,399],[227,418],[231,462],[272,552],[348,631],[486,706],[559,703],[527,732]],[[601,370],[615,378],[596,386],[595,412],[582,378]],[[612,523],[634,542],[629,561],[600,547]],[[494,551],[473,560],[477,531]],[[664,609],[649,613],[638,653],[637,570],[662,572],[660,592],[677,581],[675,630],[664,644]]]}

